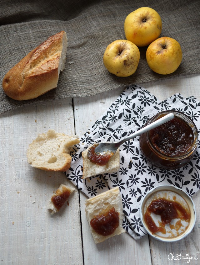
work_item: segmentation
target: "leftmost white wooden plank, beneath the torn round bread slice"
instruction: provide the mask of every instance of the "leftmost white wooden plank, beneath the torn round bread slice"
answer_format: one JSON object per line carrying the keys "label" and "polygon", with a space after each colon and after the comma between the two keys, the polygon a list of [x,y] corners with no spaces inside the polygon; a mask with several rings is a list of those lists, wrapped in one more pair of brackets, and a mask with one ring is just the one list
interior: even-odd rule
{"label": "leftmost white wooden plank, beneath the torn round bread slice", "polygon": [[1,115],[2,264],[83,264],[79,196],[74,192],[58,214],[47,210],[63,172],[45,172],[27,163],[26,151],[38,133],[74,134],[71,99],[32,104]]}

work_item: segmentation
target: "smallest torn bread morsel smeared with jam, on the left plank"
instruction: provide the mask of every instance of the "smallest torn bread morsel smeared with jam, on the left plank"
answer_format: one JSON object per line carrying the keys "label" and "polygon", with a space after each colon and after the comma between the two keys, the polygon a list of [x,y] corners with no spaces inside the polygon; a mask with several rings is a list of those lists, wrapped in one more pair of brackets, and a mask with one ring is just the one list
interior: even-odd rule
{"label": "smallest torn bread morsel smeared with jam, on the left plank", "polygon": [[64,184],[61,184],[60,187],[56,190],[56,192],[52,195],[51,200],[49,202],[48,209],[51,214],[57,213],[61,207],[64,205],[70,194],[75,190],[75,188],[70,188]]}

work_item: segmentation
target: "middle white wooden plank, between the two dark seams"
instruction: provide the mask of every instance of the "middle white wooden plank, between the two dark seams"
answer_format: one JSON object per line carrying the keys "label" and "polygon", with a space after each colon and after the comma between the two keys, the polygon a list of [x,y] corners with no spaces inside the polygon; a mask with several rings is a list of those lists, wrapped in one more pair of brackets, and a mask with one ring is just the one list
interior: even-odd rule
{"label": "middle white wooden plank, between the two dark seams", "polygon": [[[81,136],[88,130],[123,90],[124,88],[118,88],[112,92],[90,98],[74,99],[76,133]],[[85,265],[151,264],[148,236],[136,241],[126,233],[96,245],[85,215],[85,200],[87,198],[80,193],[80,199]]]}

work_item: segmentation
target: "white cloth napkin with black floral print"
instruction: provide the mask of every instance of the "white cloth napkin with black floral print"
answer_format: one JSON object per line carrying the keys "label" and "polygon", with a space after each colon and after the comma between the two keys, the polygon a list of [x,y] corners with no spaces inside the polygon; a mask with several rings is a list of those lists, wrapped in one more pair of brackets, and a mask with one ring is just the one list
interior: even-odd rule
{"label": "white cloth napkin with black floral print", "polygon": [[146,235],[139,217],[143,196],[158,185],[172,184],[190,196],[200,189],[200,140],[192,161],[175,170],[158,169],[141,154],[139,136],[120,146],[120,169],[111,174],[82,179],[82,151],[93,142],[115,142],[143,127],[147,120],[164,110],[178,110],[189,116],[200,131],[200,102],[177,93],[160,102],[140,86],[129,86],[109,109],[81,137],[71,152],[67,178],[88,197],[119,187],[123,201],[123,227],[135,239]]}

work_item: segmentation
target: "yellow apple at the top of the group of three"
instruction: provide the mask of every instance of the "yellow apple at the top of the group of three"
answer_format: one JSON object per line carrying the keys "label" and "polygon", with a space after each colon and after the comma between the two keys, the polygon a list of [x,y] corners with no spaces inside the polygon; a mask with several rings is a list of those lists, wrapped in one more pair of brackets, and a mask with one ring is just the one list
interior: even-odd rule
{"label": "yellow apple at the top of the group of three", "polygon": [[126,39],[138,47],[144,47],[158,39],[162,31],[160,15],[149,7],[141,7],[131,12],[125,19]]}

